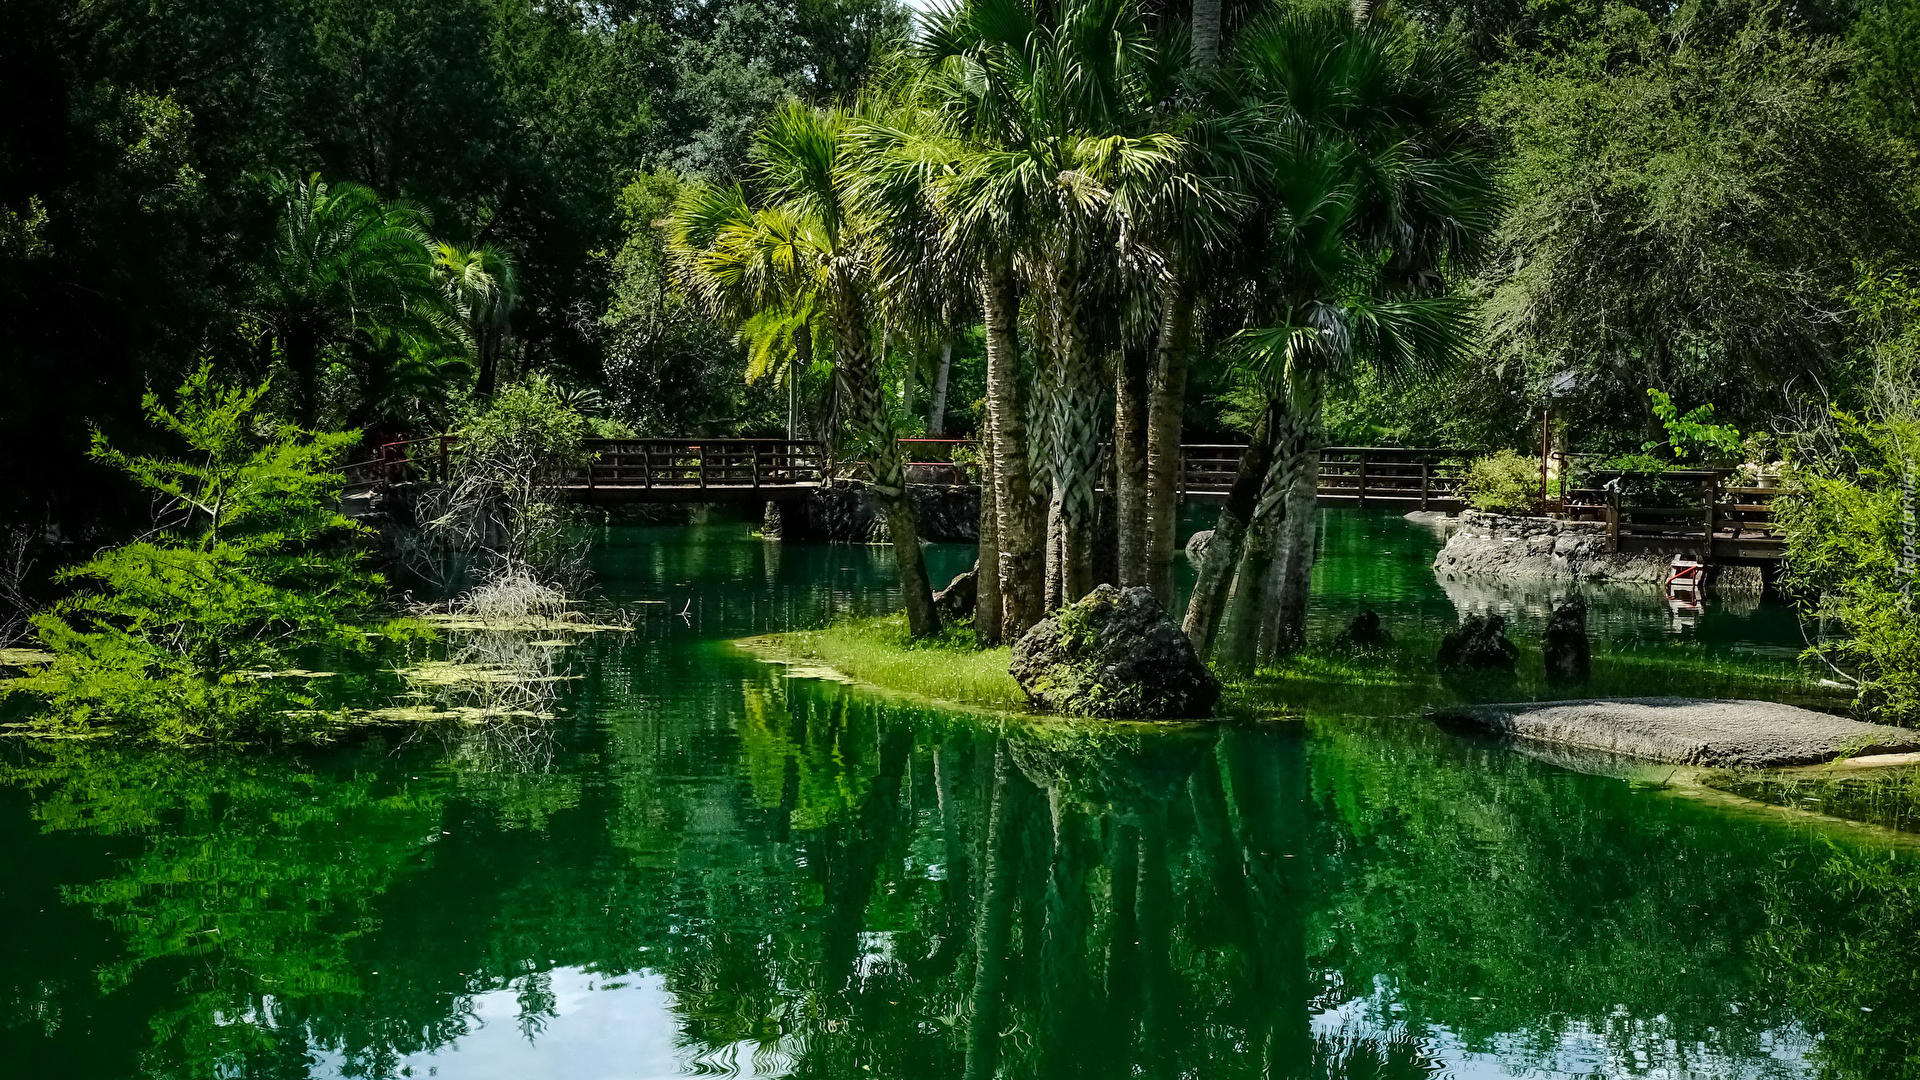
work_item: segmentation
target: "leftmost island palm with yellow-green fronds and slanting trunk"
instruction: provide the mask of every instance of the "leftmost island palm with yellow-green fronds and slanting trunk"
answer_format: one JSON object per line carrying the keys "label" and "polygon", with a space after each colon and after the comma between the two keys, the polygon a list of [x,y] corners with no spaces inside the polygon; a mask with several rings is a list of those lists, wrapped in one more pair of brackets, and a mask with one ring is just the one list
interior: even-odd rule
{"label": "leftmost island palm with yellow-green fronds and slanting trunk", "polygon": [[674,206],[670,250],[682,286],[716,317],[745,323],[808,296],[824,311],[835,392],[887,507],[908,630],[918,638],[939,632],[939,613],[879,384],[872,296],[877,223],[860,213],[852,192],[851,131],[843,110],[780,110],[753,150],[762,206],[751,206],[739,186],[691,184]]}

